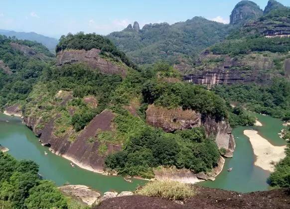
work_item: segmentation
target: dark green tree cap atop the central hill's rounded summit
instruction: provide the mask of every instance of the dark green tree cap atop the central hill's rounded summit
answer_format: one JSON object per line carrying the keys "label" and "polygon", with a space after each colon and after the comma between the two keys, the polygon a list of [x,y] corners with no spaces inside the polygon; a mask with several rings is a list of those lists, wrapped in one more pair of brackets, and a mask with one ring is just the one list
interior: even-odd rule
{"label": "dark green tree cap atop the central hill's rounded summit", "polygon": [[[75,35],[69,33],[67,36],[61,36],[59,43],[56,46],[56,52],[65,49],[84,49],[91,50],[93,48],[100,49],[104,56],[112,55],[113,57],[118,57],[127,66],[135,68],[135,65],[126,57],[124,52],[121,52],[108,38],[101,35],[96,35],[95,33],[84,34],[79,32]],[[109,54],[106,54],[109,53]]]}

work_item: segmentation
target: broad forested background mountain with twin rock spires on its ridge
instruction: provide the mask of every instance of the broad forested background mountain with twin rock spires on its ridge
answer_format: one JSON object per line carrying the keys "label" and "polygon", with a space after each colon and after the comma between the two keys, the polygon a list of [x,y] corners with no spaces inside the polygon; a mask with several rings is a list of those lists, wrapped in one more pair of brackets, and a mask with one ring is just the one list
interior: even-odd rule
{"label": "broad forested background mountain with twin rock spires on its ridge", "polygon": [[166,60],[173,64],[180,58],[192,58],[202,49],[225,39],[230,25],[194,17],[185,22],[146,24],[139,29],[135,22],[107,37],[137,64]]}

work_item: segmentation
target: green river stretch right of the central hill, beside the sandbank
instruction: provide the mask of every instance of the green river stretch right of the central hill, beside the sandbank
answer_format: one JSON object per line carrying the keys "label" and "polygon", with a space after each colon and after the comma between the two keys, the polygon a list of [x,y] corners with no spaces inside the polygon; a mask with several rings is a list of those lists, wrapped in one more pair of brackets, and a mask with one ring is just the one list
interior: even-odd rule
{"label": "green river stretch right of the central hill, beside the sandbank", "polygon": [[[226,159],[224,169],[215,181],[200,183],[202,186],[237,192],[265,191],[269,189],[267,179],[270,172],[254,165],[255,155],[244,130],[255,129],[261,136],[276,146],[286,144],[278,133],[283,129],[283,122],[277,118],[255,114],[263,126],[241,126],[233,129],[236,149],[233,158]],[[231,172],[227,170],[233,168]]]}

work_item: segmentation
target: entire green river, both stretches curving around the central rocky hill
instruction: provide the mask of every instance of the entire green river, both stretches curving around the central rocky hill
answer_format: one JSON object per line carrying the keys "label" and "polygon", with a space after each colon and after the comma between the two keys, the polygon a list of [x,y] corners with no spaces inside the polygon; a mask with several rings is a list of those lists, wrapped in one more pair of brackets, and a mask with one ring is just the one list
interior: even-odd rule
{"label": "entire green river, both stretches curving around the central rocky hill", "polygon": [[[221,174],[214,182],[206,181],[200,185],[237,192],[252,192],[267,190],[267,178],[270,173],[254,166],[255,156],[248,138],[243,134],[245,129],[255,129],[273,145],[285,145],[278,133],[283,128],[282,121],[270,116],[255,114],[261,127],[238,127],[233,129],[236,140],[234,157],[226,159]],[[9,122],[7,122],[7,121]],[[29,159],[39,165],[39,173],[45,178],[61,186],[65,183],[89,186],[101,193],[107,191],[133,191],[138,185],[145,184],[143,180],[133,179],[126,182],[123,177],[104,176],[70,166],[70,161],[52,154],[47,147],[41,146],[33,132],[21,123],[17,117],[0,114],[0,144],[9,149],[8,153],[16,159]],[[48,153],[44,155],[44,151]],[[228,172],[228,168],[233,168]]]}

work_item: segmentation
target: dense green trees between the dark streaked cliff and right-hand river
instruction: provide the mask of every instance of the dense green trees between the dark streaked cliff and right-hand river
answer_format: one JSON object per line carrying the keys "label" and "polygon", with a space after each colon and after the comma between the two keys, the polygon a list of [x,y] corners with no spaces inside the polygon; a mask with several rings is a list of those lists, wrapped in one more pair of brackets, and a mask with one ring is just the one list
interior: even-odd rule
{"label": "dense green trees between the dark streaked cliff and right-hand river", "polygon": [[[273,80],[270,86],[256,84],[221,85],[213,89],[228,102],[246,104],[247,109],[273,117],[287,119],[290,109],[290,82]],[[231,118],[236,123],[237,118]],[[240,119],[239,119],[240,120]]]}

